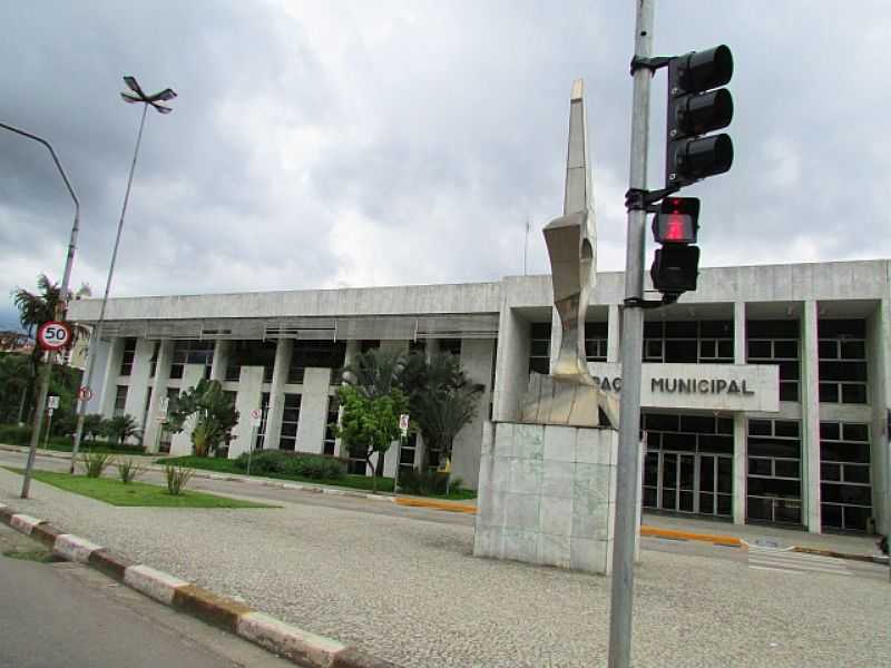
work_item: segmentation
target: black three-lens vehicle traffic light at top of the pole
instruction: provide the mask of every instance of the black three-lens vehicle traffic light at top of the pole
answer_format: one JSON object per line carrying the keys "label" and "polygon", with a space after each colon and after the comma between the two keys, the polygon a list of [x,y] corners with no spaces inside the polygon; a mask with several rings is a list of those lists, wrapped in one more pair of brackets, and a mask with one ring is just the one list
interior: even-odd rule
{"label": "black three-lens vehicle traffic light at top of the pole", "polygon": [[718,88],[731,77],[733,53],[724,45],[669,59],[666,188],[686,186],[731,168],[730,136],[703,137],[727,127],[733,119],[733,96],[726,88]]}

